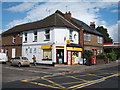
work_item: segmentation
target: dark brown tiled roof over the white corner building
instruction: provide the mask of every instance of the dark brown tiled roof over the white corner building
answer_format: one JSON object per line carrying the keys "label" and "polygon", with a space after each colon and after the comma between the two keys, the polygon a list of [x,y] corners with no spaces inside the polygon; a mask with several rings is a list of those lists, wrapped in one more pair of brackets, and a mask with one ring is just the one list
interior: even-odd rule
{"label": "dark brown tiled roof over the white corner building", "polygon": [[58,12],[46,17],[45,19],[26,23],[22,25],[15,26],[3,33],[3,35],[11,34],[11,33],[20,33],[23,31],[28,30],[35,30],[41,28],[48,28],[48,27],[68,27],[79,30],[74,24],[64,19]]}

